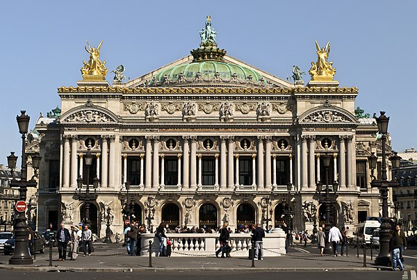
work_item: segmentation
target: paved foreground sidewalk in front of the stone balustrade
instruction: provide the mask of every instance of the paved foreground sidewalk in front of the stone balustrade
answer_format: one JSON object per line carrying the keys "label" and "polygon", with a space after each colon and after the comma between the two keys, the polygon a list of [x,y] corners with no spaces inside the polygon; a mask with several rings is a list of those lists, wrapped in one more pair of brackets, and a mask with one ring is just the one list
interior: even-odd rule
{"label": "paved foreground sidewalk in front of the stone balustrade", "polygon": [[[92,256],[80,255],[76,261],[59,261],[58,249],[54,248],[52,265],[49,265],[49,248],[45,254],[37,254],[33,265],[8,265],[10,256],[0,256],[0,270],[26,271],[74,271],[74,272],[122,272],[122,271],[183,271],[183,270],[261,270],[261,271],[326,271],[326,270],[390,270],[391,267],[378,267],[367,259],[367,267],[363,267],[363,258],[356,254],[350,256],[320,256],[311,253],[291,253],[286,256],[265,257],[263,261],[252,261],[248,258],[233,257],[216,258],[215,256],[174,256],[152,257],[152,267],[149,256],[127,256],[126,248],[120,244],[95,243],[95,253]],[[353,252],[352,252],[353,253]],[[375,258],[374,258],[375,259]],[[405,266],[407,270],[414,269]]]}

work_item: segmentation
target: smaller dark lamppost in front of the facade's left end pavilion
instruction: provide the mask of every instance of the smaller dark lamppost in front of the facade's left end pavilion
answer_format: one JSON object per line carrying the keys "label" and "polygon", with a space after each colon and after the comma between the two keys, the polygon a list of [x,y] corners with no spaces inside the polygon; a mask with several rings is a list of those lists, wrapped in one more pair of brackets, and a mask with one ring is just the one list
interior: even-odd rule
{"label": "smaller dark lamppost in front of the facade's left end pavilion", "polygon": [[94,188],[94,192],[90,192],[90,166],[92,163],[92,153],[90,149],[87,150],[87,153],[84,155],[85,165],[87,166],[87,187],[85,188],[85,192],[83,190],[83,179],[81,175],[78,179],[76,179],[76,184],[78,186],[78,199],[79,201],[83,201],[85,204],[85,217],[83,224],[89,225],[90,224],[90,203],[96,201],[97,199],[97,188],[99,186],[100,180],[97,178],[97,175],[92,179],[92,187]]}

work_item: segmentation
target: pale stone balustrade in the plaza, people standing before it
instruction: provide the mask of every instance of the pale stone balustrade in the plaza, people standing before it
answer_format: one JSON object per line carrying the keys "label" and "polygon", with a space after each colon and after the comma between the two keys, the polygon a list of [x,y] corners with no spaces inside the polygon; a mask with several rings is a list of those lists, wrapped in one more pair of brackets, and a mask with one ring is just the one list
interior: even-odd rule
{"label": "pale stone balustrade in the plaza, people standing before it", "polygon": [[[214,256],[220,248],[219,233],[167,233],[172,242],[171,256]],[[152,254],[158,256],[159,240],[153,233],[141,235],[142,256],[149,256],[149,240],[152,241]],[[250,233],[231,233],[231,256],[249,256],[251,248]],[[263,238],[263,256],[285,254],[285,233],[274,229]]]}

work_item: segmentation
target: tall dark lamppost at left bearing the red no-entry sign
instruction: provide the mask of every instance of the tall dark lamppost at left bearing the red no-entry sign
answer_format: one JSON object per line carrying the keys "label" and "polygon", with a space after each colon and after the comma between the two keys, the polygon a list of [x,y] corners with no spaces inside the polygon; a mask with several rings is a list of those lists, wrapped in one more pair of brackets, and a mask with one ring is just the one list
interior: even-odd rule
{"label": "tall dark lamppost at left bearing the red no-entry sign", "polygon": [[[20,113],[22,113],[22,115],[16,116],[16,120],[17,125],[19,126],[19,133],[22,134],[22,167],[20,170],[20,180],[15,180],[13,175],[13,180],[10,182],[10,187],[19,187],[19,199],[26,201],[27,188],[35,188],[38,183],[34,179],[35,176],[33,176],[31,180],[27,181],[27,156],[25,152],[25,139],[26,134],[28,133],[28,126],[31,117],[25,114],[25,110],[21,110]],[[10,156],[7,157],[7,159],[8,166],[13,172],[16,167],[17,156],[15,156],[12,152]],[[40,156],[35,156],[35,158],[32,158],[32,167],[34,170],[38,170],[40,160]],[[13,223],[15,231],[15,251],[13,252],[13,256],[9,259],[9,264],[31,265],[33,264],[33,259],[28,252],[29,229],[28,224],[26,223],[25,211],[19,212],[15,216],[15,222]]]}

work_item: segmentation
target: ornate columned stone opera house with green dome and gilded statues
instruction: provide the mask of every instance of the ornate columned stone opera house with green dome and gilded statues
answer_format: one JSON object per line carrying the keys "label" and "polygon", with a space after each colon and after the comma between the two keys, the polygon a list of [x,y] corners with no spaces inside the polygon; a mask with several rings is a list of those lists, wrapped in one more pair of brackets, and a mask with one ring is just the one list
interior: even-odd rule
{"label": "ornate columned stone opera house with green dome and gilded statues", "polygon": [[58,88],[61,114],[36,125],[43,157],[38,228],[83,220],[77,179],[85,192],[88,150],[95,156],[90,188],[94,176],[100,180],[90,208],[99,236],[107,208],[111,229],[122,232],[126,181],[133,220],[145,224],[147,218],[173,228],[229,221],[236,228],[270,219],[279,226],[289,195],[293,228],[311,230],[324,220],[316,192],[316,183],[326,181],[324,155],[332,156],[329,182],[339,184],[333,222],[354,227],[378,216],[367,158],[377,151],[377,126],[355,117],[358,90],[338,87],[332,63],[320,58],[328,48],[318,47],[312,80],[304,86],[300,73],[289,83],[227,56],[210,19],[200,34],[190,56],[126,83],[118,67],[112,86],[94,53],[101,44],[90,47],[95,61],[84,63],[83,80]]}

